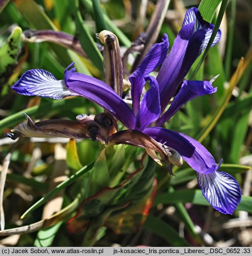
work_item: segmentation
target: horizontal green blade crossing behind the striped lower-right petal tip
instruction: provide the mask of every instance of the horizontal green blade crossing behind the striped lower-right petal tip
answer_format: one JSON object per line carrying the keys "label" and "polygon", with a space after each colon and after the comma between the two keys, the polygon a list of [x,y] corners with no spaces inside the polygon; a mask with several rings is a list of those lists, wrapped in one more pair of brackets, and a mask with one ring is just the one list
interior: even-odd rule
{"label": "horizontal green blade crossing behind the striped lower-right petal tip", "polygon": [[[190,202],[194,205],[210,206],[209,202],[206,201],[206,198],[202,195],[200,189],[183,189],[172,193],[160,194],[156,197],[153,206],[158,204],[176,204],[178,202],[183,204]],[[252,197],[242,196],[242,201],[238,205],[237,210],[244,210],[248,213],[252,213]]]}

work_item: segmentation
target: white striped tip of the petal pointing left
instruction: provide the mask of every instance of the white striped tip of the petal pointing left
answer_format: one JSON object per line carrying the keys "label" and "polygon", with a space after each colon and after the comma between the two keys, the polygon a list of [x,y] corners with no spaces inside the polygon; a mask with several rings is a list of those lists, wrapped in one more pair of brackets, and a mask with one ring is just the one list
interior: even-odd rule
{"label": "white striped tip of the petal pointing left", "polygon": [[78,95],[68,90],[64,80],[57,80],[50,72],[38,69],[26,71],[11,88],[18,94],[52,99]]}

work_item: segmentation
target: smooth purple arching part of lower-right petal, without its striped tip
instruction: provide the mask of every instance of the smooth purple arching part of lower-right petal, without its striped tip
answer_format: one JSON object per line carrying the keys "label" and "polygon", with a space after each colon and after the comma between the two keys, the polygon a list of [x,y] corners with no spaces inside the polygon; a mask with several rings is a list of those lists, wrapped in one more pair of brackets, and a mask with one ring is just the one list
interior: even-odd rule
{"label": "smooth purple arching part of lower-right petal, without its striped tip", "polygon": [[144,129],[144,133],[160,143],[175,149],[194,170],[210,174],[218,169],[216,161],[208,150],[197,140],[181,132],[173,132],[161,127]]}

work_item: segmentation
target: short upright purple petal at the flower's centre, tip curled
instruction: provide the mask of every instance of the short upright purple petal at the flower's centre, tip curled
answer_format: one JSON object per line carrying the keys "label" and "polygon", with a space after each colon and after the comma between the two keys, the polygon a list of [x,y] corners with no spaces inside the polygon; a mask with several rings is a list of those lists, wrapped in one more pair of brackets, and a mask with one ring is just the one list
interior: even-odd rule
{"label": "short upright purple petal at the flower's centre, tip curled", "polygon": [[151,88],[144,94],[140,110],[137,113],[135,129],[139,131],[142,131],[160,116],[158,83],[152,76],[148,76],[145,80],[150,81]]}

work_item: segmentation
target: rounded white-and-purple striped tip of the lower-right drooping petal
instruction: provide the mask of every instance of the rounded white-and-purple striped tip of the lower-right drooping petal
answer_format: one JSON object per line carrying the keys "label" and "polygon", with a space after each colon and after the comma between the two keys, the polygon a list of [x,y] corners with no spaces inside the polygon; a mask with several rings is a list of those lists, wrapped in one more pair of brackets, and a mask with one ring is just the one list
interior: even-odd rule
{"label": "rounded white-and-purple striped tip of the lower-right drooping petal", "polygon": [[223,214],[233,214],[241,201],[241,189],[235,178],[225,172],[197,173],[197,176],[202,194],[210,205]]}

